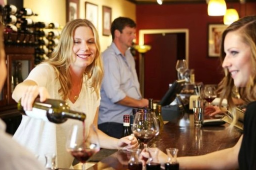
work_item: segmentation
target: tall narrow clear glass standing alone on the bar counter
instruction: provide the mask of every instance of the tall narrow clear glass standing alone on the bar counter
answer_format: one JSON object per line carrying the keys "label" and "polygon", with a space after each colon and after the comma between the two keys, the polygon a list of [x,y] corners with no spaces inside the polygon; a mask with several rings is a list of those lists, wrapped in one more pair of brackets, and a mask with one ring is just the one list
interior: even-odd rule
{"label": "tall narrow clear glass standing alone on the bar counter", "polygon": [[203,121],[204,100],[197,99],[193,101],[194,124],[201,126]]}

